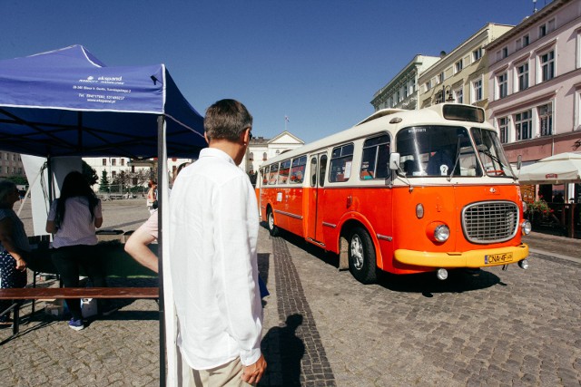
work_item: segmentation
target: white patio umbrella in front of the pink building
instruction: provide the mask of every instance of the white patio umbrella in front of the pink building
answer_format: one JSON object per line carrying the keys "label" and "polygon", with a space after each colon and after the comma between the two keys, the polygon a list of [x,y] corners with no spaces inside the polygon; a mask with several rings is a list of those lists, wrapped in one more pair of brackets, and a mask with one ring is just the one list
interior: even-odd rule
{"label": "white patio umbrella in front of the pink building", "polygon": [[564,184],[581,182],[581,152],[559,153],[520,169],[520,183]]}

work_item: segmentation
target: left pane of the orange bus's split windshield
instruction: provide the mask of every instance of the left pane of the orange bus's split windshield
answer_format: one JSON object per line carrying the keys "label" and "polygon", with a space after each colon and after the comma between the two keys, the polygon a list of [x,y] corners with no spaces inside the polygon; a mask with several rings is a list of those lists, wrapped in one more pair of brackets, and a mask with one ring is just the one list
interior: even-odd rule
{"label": "left pane of the orange bus's split windshield", "polygon": [[399,131],[399,175],[482,176],[468,130],[456,126],[414,126]]}

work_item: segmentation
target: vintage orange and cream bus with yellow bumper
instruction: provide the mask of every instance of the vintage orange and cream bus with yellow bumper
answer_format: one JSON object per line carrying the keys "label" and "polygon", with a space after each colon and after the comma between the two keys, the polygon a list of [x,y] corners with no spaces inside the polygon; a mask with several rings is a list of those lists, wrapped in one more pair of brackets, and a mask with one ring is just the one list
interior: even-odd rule
{"label": "vintage orange and cream bus with yellow bumper", "polygon": [[379,270],[528,266],[517,176],[478,107],[377,111],[263,163],[257,195],[271,235],[338,254],[364,284]]}

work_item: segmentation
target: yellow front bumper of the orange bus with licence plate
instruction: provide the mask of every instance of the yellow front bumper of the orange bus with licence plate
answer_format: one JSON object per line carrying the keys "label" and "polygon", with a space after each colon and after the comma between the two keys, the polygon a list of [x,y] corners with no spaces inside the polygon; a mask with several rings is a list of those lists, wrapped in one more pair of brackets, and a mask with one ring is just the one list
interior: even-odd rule
{"label": "yellow front bumper of the orange bus with licence plate", "polygon": [[516,264],[528,256],[528,245],[470,250],[463,253],[429,253],[426,251],[398,249],[396,261],[409,266],[425,267],[486,267]]}

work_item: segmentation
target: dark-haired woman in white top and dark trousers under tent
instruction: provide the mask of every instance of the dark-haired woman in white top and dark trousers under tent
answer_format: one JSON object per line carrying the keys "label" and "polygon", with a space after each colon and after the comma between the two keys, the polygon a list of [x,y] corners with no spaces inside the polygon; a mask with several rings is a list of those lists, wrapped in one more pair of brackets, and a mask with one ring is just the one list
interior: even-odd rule
{"label": "dark-haired woman in white top and dark trousers under tent", "polygon": [[[52,259],[63,280],[64,287],[79,286],[79,268],[91,279],[96,287],[106,287],[103,267],[95,254],[97,244],[95,227],[103,225],[101,200],[81,172],[66,175],[61,189],[61,197],[51,203],[46,220],[46,232],[54,234]],[[66,299],[66,305],[73,315],[69,327],[75,331],[84,329],[79,298]],[[103,314],[113,312],[109,304],[99,304]]]}

